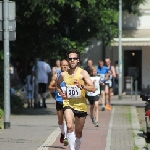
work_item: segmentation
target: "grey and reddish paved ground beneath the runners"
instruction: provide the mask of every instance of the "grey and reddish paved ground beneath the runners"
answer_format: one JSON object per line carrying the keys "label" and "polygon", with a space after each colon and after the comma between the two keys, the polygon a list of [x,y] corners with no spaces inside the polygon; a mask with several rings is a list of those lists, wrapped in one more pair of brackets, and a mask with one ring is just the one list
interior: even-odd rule
{"label": "grey and reddish paved ground beneath the runners", "polygon": [[[22,115],[12,115],[11,129],[0,130],[0,150],[69,150],[59,142],[54,102],[48,99],[47,109],[24,109]],[[99,127],[87,116],[80,150],[146,150],[145,139],[138,136],[142,133],[135,107],[144,105],[139,96],[137,100],[113,96],[111,111],[99,107]]]}

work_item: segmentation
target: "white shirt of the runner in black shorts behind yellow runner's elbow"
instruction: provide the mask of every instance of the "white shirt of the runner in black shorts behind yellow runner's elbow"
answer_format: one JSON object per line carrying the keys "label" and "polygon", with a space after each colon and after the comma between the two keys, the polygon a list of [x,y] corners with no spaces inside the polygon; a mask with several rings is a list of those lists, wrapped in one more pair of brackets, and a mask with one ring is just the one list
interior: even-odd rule
{"label": "white shirt of the runner in black shorts behind yellow runner's elbow", "polygon": [[95,76],[95,77],[90,77],[90,79],[92,80],[92,82],[96,88],[96,91],[94,93],[87,91],[87,95],[88,96],[96,96],[96,95],[100,94],[100,77]]}

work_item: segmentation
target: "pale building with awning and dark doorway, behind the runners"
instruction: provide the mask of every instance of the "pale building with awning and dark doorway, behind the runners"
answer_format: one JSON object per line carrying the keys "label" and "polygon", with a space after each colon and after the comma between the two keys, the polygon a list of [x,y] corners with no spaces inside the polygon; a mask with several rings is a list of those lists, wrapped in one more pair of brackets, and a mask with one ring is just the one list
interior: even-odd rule
{"label": "pale building with awning and dark doorway, behind the runners", "polygon": [[[127,76],[138,81],[138,90],[150,88],[150,0],[139,6],[140,16],[123,12],[122,17],[122,68],[123,84]],[[111,59],[112,64],[118,61],[119,39],[115,38],[111,47],[104,52],[101,40],[91,40],[82,54],[82,65],[92,59],[94,65],[104,56]],[[105,54],[104,54],[105,53]]]}

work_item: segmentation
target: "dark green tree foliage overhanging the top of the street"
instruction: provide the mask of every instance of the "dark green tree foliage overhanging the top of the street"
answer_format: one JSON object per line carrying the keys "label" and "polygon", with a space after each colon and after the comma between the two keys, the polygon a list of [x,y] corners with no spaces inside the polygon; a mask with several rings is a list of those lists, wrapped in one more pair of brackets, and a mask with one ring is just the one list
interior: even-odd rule
{"label": "dark green tree foliage overhanging the top of the street", "polygon": [[[138,13],[144,0],[123,0],[123,10]],[[68,48],[83,50],[87,40],[108,45],[118,34],[119,0],[16,0],[14,56],[63,57]]]}

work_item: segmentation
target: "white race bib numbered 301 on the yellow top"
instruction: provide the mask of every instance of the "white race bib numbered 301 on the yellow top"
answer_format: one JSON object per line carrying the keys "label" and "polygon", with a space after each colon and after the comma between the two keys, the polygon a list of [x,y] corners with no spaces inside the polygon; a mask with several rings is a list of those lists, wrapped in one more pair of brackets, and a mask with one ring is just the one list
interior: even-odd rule
{"label": "white race bib numbered 301 on the yellow top", "polygon": [[81,98],[81,90],[76,85],[67,85],[68,98]]}

